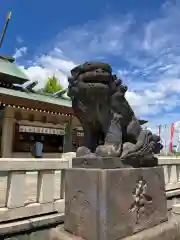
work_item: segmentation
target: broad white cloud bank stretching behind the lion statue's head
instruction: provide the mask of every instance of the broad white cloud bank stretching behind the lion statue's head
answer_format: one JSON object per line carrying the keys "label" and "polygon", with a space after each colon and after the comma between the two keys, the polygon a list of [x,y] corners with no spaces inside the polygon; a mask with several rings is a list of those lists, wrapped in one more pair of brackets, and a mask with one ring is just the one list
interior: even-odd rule
{"label": "broad white cloud bank stretching behind the lion statue's head", "polygon": [[[127,99],[138,116],[156,123],[178,120],[180,107],[180,2],[166,3],[156,19],[137,25],[132,15],[115,16],[61,31],[49,50],[26,67],[43,86],[56,74],[67,86],[67,75],[78,63],[113,63],[128,85]],[[136,31],[134,31],[136,29]],[[114,64],[115,63],[115,64]]]}

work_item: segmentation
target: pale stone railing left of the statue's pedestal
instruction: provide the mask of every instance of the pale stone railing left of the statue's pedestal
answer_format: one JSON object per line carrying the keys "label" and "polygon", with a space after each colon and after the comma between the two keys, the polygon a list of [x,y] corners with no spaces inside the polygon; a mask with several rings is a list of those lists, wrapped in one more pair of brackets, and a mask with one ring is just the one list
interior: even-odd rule
{"label": "pale stone railing left of the statue's pedestal", "polygon": [[64,213],[63,159],[0,159],[0,222]]}

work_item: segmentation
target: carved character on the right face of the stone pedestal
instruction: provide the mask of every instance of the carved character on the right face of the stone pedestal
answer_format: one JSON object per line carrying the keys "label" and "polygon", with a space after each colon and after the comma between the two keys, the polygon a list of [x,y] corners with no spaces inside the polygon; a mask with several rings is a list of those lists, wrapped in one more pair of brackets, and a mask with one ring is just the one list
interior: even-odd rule
{"label": "carved character on the right face of the stone pedestal", "polygon": [[133,191],[133,203],[129,209],[130,212],[135,212],[136,214],[136,224],[139,223],[140,214],[145,212],[145,207],[147,204],[152,203],[152,197],[147,194],[147,182],[141,177]]}

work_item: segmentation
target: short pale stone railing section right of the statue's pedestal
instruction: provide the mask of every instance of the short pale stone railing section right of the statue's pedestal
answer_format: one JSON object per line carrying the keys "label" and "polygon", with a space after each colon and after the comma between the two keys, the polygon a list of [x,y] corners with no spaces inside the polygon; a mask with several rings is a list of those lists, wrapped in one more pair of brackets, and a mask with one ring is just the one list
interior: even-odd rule
{"label": "short pale stone railing section right of the statue's pedestal", "polygon": [[180,195],[180,157],[158,157],[159,165],[164,168],[167,196]]}

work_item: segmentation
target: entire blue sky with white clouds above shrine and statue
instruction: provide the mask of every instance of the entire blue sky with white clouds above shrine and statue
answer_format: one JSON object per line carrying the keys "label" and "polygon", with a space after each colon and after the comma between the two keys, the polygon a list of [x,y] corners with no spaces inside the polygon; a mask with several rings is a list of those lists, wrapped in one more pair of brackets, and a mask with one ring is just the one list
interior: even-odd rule
{"label": "entire blue sky with white clouds above shrine and statue", "polygon": [[13,55],[39,86],[52,74],[67,86],[76,64],[105,61],[149,126],[180,120],[180,0],[2,0],[1,28],[8,11],[0,53]]}

